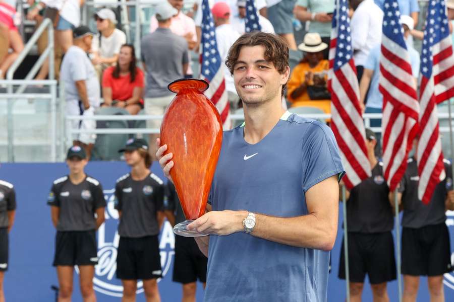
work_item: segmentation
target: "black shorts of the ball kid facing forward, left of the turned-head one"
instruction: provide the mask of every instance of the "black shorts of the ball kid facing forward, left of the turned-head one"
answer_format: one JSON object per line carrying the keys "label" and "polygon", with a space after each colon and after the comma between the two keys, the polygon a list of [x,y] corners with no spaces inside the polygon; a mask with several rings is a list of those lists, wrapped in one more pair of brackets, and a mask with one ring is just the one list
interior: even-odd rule
{"label": "black shorts of the ball kid facing forward, left of the turned-head one", "polygon": [[96,231],[58,231],[53,266],[95,265],[98,263]]}

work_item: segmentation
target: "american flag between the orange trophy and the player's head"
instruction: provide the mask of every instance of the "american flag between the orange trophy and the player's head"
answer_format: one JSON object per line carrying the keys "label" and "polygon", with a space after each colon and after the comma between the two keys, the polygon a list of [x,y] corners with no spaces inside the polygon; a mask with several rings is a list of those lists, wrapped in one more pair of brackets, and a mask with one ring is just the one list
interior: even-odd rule
{"label": "american flag between the orange trophy and the player's head", "polygon": [[223,62],[217,50],[216,32],[208,0],[202,2],[202,40],[200,54],[200,78],[210,84],[205,95],[219,111],[223,128],[230,129],[230,104],[225,90]]}

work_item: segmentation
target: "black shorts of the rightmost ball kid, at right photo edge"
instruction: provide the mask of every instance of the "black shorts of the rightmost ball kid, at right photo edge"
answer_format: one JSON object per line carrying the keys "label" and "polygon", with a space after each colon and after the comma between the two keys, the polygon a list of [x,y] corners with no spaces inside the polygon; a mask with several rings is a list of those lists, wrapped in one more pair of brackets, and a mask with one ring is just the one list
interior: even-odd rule
{"label": "black shorts of the rightmost ball kid, at right photo edge", "polygon": [[402,228],[402,273],[413,276],[440,276],[451,272],[449,232],[446,224]]}

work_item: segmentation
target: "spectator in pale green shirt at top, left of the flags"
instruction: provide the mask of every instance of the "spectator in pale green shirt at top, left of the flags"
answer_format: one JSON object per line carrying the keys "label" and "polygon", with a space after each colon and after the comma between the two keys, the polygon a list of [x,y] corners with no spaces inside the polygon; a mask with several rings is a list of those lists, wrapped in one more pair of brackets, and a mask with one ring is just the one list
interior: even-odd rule
{"label": "spectator in pale green shirt at top, left of the flags", "polygon": [[[331,0],[298,0],[295,6],[295,17],[301,22],[310,21],[310,33],[318,33],[324,43],[329,45],[331,20],[334,1]],[[323,58],[328,59],[329,48],[323,51]]]}

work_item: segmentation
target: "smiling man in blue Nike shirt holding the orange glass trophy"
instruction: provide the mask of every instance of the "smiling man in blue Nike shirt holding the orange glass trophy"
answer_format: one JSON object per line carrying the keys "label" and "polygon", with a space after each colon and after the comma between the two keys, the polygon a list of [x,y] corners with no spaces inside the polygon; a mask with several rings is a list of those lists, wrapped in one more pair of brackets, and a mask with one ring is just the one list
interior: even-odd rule
{"label": "smiling man in blue Nike shirt holding the orange glass trophy", "polygon": [[[288,61],[286,43],[261,32],[241,36],[226,59],[245,123],[223,132],[212,210],[186,228],[209,235],[196,238],[208,256],[205,301],[326,300],[344,169],[326,125],[282,108]],[[176,180],[175,148],[156,143]]]}

